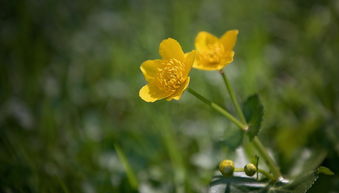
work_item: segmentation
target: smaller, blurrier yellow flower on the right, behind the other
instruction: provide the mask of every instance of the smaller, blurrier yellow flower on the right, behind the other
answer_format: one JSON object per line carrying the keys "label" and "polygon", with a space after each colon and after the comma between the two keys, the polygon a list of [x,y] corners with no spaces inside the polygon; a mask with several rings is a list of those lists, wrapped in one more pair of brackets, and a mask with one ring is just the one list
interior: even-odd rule
{"label": "smaller, blurrier yellow flower on the right, behind the other", "polygon": [[197,50],[193,68],[200,70],[220,70],[233,61],[233,47],[239,31],[227,31],[221,38],[208,32],[199,32],[195,38]]}

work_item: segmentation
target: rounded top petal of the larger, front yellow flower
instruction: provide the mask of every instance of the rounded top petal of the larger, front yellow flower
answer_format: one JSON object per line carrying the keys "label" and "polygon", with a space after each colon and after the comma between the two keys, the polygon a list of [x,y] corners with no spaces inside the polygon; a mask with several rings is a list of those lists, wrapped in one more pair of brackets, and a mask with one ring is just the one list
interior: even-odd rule
{"label": "rounded top petal of the larger, front yellow flower", "polygon": [[184,61],[184,52],[180,44],[172,38],[165,39],[160,43],[159,54],[163,59],[176,58]]}

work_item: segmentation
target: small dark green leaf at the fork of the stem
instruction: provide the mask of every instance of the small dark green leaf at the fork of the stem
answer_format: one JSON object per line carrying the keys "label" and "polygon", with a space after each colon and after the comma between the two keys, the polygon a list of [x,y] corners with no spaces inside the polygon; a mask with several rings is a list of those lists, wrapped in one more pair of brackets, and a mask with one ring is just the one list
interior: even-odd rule
{"label": "small dark green leaf at the fork of the stem", "polygon": [[243,105],[243,112],[249,126],[248,136],[253,139],[260,130],[261,121],[264,115],[264,106],[257,94],[247,98]]}

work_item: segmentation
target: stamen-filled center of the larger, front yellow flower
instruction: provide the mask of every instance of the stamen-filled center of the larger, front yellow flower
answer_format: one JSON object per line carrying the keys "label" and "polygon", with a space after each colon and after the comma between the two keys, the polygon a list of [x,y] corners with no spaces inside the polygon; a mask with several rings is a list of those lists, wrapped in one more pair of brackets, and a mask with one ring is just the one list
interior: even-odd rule
{"label": "stamen-filled center of the larger, front yellow flower", "polygon": [[165,60],[163,67],[158,70],[160,89],[171,93],[178,90],[186,81],[184,72],[185,65],[181,61],[175,58]]}

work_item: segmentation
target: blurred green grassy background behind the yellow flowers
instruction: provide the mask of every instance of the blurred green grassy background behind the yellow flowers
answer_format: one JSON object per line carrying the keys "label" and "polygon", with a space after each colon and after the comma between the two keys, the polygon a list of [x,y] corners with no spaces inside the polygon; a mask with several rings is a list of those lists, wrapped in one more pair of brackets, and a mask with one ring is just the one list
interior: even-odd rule
{"label": "blurred green grassy background behind the yellow flowers", "polygon": [[[225,71],[241,102],[260,95],[259,137],[284,175],[305,162],[339,173],[337,0],[0,7],[0,192],[206,192],[218,162],[236,159],[241,135],[189,93],[142,101],[139,66],[159,58],[165,38],[190,51],[199,31],[230,29],[240,33]],[[216,72],[192,70],[190,86],[233,112]],[[338,175],[310,190],[338,191]]]}

